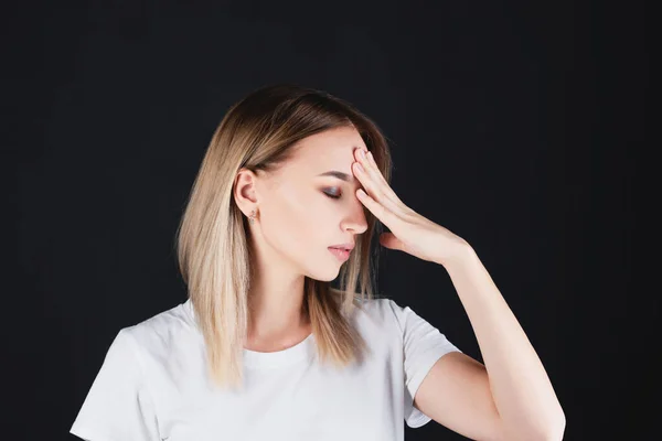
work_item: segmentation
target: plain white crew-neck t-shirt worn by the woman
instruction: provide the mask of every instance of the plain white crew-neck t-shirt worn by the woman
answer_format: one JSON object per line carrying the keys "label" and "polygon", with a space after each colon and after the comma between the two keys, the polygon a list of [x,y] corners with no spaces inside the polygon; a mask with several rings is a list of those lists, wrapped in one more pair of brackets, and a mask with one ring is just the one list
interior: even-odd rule
{"label": "plain white crew-neck t-shirt worn by the woman", "polygon": [[71,433],[92,441],[402,441],[442,355],[458,349],[410,308],[365,301],[352,323],[370,353],[346,369],[316,362],[314,335],[285,351],[244,348],[245,389],[211,386],[191,300],[119,331]]}

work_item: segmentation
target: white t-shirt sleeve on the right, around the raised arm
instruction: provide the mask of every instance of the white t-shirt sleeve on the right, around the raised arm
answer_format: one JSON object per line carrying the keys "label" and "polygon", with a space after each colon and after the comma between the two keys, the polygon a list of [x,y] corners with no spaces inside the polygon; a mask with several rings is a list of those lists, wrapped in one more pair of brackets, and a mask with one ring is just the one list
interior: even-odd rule
{"label": "white t-shirt sleeve on the right, around the raised arm", "polygon": [[393,300],[388,301],[403,332],[405,421],[410,428],[419,428],[431,418],[414,406],[418,387],[441,356],[461,351],[409,306],[402,308]]}

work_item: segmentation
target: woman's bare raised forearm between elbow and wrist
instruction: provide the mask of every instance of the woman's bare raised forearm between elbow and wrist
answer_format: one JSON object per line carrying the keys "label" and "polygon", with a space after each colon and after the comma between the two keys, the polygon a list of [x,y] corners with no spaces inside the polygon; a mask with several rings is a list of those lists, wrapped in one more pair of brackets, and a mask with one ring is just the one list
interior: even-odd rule
{"label": "woman's bare raised forearm between elbow and wrist", "polygon": [[565,416],[545,368],[473,249],[444,266],[476,333],[509,439],[560,440]]}

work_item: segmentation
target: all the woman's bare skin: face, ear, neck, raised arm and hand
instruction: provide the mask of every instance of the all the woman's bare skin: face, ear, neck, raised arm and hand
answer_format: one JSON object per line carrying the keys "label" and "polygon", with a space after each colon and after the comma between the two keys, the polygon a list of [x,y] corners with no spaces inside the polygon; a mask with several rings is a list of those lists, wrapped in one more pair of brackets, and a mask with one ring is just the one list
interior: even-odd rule
{"label": "all the woman's bare skin: face, ear, neck, raised arm and hand", "polygon": [[[263,225],[252,229],[256,230],[263,271],[252,291],[256,295],[253,330],[257,341],[269,331],[287,335],[288,330],[306,330],[300,313],[302,273],[319,280],[337,276],[340,262],[332,265],[333,259],[323,251],[330,245],[353,241],[354,235],[365,230],[365,207],[389,229],[380,237],[384,247],[439,263],[448,271],[485,362],[462,353],[442,356],[420,384],[414,405],[470,439],[563,439],[565,415],[545,369],[474,250],[461,237],[407,207],[374,160],[361,155],[366,149],[353,129],[312,138],[306,140],[311,148],[292,161],[292,168],[288,165],[291,175],[263,182],[246,172],[239,180],[242,190],[235,193],[244,213],[258,206],[263,218]],[[313,174],[331,168],[345,173],[350,169],[355,180],[313,183]],[[333,187],[342,190],[344,196],[338,200],[342,202],[325,204],[323,194],[321,200],[313,196]],[[275,198],[269,201],[267,195]]]}

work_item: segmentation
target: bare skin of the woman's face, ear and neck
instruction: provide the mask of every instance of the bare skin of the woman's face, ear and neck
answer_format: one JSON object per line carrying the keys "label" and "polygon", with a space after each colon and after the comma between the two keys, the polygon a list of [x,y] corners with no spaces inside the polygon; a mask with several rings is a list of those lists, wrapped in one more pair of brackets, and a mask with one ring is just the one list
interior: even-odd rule
{"label": "bare skin of the woman's face, ear and neck", "polygon": [[[359,132],[328,130],[292,148],[293,157],[277,172],[242,169],[236,176],[237,206],[248,216],[256,212],[250,226],[256,276],[245,344],[252,351],[281,351],[310,334],[310,321],[301,312],[305,277],[335,279],[342,261],[328,247],[355,243],[367,228],[364,207],[354,196],[361,183],[352,175],[353,152],[365,149]],[[319,176],[328,171],[345,173],[351,182]]]}

